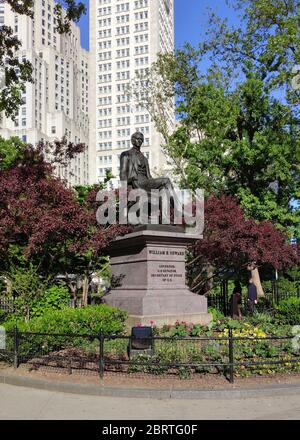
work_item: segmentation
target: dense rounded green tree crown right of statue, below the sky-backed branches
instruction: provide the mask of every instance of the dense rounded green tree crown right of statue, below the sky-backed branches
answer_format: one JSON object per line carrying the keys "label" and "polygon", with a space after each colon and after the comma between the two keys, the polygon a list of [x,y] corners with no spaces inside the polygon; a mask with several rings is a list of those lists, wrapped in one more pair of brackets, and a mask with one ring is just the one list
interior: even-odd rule
{"label": "dense rounded green tree crown right of statue, below the sky-backed branches", "polygon": [[249,74],[230,93],[199,84],[182,113],[169,148],[182,184],[237,196],[249,217],[298,236],[299,211],[291,201],[299,191],[299,133],[291,136],[290,109]]}

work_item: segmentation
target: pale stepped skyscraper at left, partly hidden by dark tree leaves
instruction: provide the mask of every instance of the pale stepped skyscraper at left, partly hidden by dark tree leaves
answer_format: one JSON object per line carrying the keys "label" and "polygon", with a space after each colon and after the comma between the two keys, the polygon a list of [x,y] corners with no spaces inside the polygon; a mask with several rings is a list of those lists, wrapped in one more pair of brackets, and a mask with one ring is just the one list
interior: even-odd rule
{"label": "pale stepped skyscraper at left, partly hidden by dark tree leaves", "polygon": [[[0,114],[0,135],[19,136],[33,145],[41,139],[66,136],[74,143],[89,141],[89,53],[80,46],[80,29],[56,31],[54,0],[36,0],[34,19],[0,4],[0,26],[10,26],[22,42],[19,57],[33,65],[33,83],[27,83],[24,104],[16,121]],[[88,151],[57,173],[70,185],[89,183]]]}

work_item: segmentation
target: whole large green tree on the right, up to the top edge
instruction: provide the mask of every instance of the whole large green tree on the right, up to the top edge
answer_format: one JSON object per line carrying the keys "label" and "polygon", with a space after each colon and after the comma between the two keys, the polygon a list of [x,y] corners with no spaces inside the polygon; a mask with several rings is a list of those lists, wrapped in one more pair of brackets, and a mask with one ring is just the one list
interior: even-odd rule
{"label": "whole large green tree on the right, up to the top edge", "polygon": [[[292,70],[300,63],[298,1],[230,3],[242,26],[231,29],[212,13],[198,50],[186,45],[159,57],[145,81],[154,90],[144,105],[163,120],[170,96],[178,98],[180,124],[173,133],[154,121],[185,188],[237,196],[249,217],[300,237],[299,209],[292,204],[300,194],[299,106],[281,99],[287,90],[300,97],[291,90]],[[200,70],[207,58],[208,69]],[[172,92],[164,100],[161,84]],[[278,86],[283,93],[275,99]]]}

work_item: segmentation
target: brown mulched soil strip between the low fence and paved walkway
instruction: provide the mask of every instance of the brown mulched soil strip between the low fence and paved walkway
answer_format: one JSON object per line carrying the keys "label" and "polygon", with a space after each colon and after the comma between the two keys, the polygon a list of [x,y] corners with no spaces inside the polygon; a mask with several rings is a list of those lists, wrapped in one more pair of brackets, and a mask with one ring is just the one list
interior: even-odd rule
{"label": "brown mulched soil strip between the low fence and paved walkway", "polygon": [[145,373],[128,374],[122,369],[106,371],[104,379],[98,375],[98,356],[91,353],[82,359],[77,349],[62,350],[51,355],[36,358],[27,364],[21,364],[15,370],[0,363],[0,373],[22,377],[31,377],[55,382],[97,385],[104,388],[148,388],[148,389],[185,389],[185,390],[217,390],[252,388],[274,384],[300,384],[300,373],[274,374],[268,376],[251,376],[236,378],[234,384],[220,374],[193,374],[187,379],[168,374],[156,376]]}

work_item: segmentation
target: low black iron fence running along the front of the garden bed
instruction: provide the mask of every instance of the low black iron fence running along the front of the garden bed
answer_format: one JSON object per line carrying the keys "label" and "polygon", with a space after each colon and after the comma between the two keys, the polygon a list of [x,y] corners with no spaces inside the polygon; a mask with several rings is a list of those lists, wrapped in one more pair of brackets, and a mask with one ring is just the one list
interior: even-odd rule
{"label": "low black iron fence running along the front of the garden bed", "polygon": [[[221,336],[220,336],[221,334]],[[300,343],[294,336],[234,336],[228,329],[213,337],[151,337],[149,349],[134,349],[130,336],[19,332],[6,335],[0,362],[30,370],[67,374],[126,375],[222,374],[300,371]],[[298,346],[299,343],[299,346]]]}

